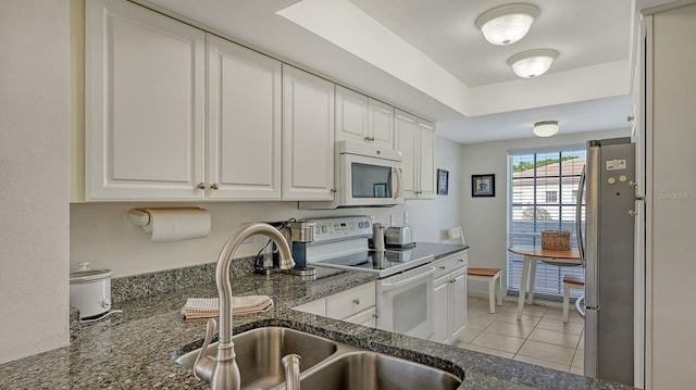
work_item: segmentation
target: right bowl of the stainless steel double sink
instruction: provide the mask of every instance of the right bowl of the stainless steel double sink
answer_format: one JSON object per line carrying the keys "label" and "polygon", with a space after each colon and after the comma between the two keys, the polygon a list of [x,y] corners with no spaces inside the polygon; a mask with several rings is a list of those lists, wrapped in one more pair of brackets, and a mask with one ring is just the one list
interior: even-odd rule
{"label": "right bowl of the stainless steel double sink", "polygon": [[440,369],[366,351],[322,363],[300,380],[301,390],[445,390],[460,385]]}

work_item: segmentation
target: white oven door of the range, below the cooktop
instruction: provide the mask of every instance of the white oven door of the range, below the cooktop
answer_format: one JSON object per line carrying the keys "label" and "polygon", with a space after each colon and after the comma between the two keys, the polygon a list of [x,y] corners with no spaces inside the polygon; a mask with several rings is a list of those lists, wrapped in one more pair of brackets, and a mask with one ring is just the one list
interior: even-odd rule
{"label": "white oven door of the range, below the cooktop", "polygon": [[427,265],[377,280],[377,328],[430,339],[434,274]]}

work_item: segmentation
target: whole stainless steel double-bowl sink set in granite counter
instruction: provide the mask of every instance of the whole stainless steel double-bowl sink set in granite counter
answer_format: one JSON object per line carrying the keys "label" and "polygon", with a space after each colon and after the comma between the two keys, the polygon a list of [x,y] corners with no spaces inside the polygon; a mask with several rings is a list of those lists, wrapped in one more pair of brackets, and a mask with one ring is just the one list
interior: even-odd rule
{"label": "whole stainless steel double-bowl sink set in granite counter", "polygon": [[[442,369],[403,358],[366,351],[302,331],[266,327],[232,338],[239,366],[241,389],[285,389],[283,356],[301,356],[301,390],[449,390],[461,380]],[[192,370],[198,351],[176,358]],[[217,343],[206,354],[214,356]]]}

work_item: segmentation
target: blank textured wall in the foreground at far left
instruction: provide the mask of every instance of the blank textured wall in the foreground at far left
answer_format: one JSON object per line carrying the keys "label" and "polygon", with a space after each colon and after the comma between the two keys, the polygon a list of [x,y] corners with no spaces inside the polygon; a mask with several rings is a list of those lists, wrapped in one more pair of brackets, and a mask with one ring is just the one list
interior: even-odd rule
{"label": "blank textured wall in the foreground at far left", "polygon": [[0,363],[69,341],[67,0],[0,1]]}

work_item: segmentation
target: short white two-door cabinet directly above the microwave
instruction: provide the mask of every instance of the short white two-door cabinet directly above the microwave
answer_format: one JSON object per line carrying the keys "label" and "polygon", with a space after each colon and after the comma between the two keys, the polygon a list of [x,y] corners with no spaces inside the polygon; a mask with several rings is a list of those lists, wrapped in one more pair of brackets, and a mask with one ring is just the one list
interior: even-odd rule
{"label": "short white two-door cabinet directly above the microwave", "polygon": [[394,149],[394,108],[336,86],[336,140]]}

